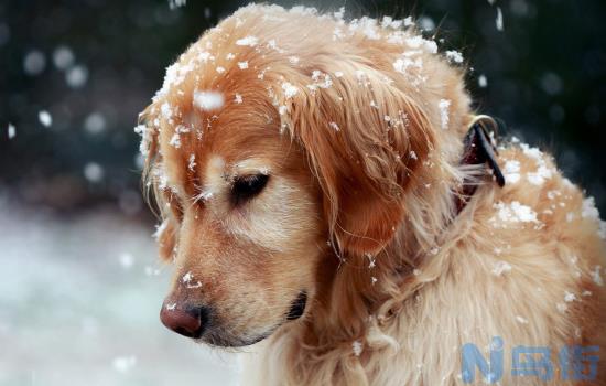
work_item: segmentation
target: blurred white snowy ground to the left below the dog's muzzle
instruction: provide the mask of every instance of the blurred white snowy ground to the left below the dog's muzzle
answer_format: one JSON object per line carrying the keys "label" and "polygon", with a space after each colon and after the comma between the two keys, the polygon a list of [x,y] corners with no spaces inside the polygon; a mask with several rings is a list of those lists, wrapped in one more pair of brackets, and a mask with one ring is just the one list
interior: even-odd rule
{"label": "blurred white snowy ground to the left below the dog's muzzle", "polygon": [[[159,260],[149,218],[116,205],[54,215],[1,187],[0,197],[0,342],[11,347],[0,350],[0,384],[237,384],[239,354],[217,355],[160,322],[174,269]],[[117,260],[125,251],[130,269]]]}

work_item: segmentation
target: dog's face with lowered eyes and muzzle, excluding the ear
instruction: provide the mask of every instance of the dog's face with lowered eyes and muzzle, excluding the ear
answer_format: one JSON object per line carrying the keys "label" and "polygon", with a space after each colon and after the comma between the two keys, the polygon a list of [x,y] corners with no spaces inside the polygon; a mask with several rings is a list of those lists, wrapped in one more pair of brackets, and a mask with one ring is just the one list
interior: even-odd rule
{"label": "dog's face with lowered eyes and muzzle, excluding the ear", "polygon": [[304,313],[326,236],[305,154],[280,135],[268,97],[238,104],[224,93],[172,100],[160,124],[156,173],[171,211],[160,242],[176,270],[161,317],[187,336],[238,346]]}

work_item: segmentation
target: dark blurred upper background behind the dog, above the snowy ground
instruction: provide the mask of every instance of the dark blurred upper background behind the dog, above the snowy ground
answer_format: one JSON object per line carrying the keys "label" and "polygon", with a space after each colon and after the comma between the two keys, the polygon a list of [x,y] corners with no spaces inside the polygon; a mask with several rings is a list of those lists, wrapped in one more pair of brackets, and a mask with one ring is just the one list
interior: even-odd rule
{"label": "dark blurred upper background behind the dog, above the snowy ground", "polygon": [[[346,17],[421,18],[441,51],[463,52],[478,111],[553,152],[606,211],[606,1],[284,2]],[[100,202],[136,215],[137,115],[164,68],[208,26],[245,4],[196,1],[0,3],[0,200],[59,211]],[[504,31],[496,28],[497,7]],[[72,53],[72,61],[69,61]],[[487,86],[478,86],[485,75]],[[44,127],[39,111],[53,124]],[[9,140],[11,122],[17,136]]]}

